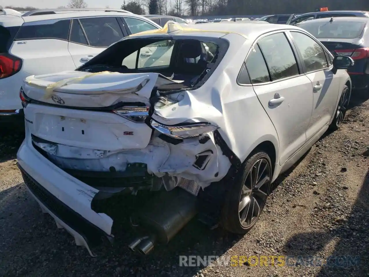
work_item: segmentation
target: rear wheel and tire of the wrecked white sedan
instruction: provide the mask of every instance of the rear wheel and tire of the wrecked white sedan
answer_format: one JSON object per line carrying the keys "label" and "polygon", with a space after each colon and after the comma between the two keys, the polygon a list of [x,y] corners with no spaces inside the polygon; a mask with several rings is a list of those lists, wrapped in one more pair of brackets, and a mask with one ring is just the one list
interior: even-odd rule
{"label": "rear wheel and tire of the wrecked white sedan", "polygon": [[[258,168],[259,173],[257,174]],[[263,168],[265,170],[261,173]],[[238,173],[225,198],[221,213],[221,225],[231,233],[244,234],[255,225],[269,195],[270,181],[272,181],[272,163],[268,154],[261,150],[254,151],[242,164]],[[252,178],[253,176],[254,178]],[[265,183],[259,188],[255,186],[255,182],[256,185],[259,185],[262,181],[265,181]],[[250,190],[251,187],[253,188]],[[239,211],[239,208],[243,206],[241,202],[246,205]],[[252,213],[247,213],[253,207]],[[245,216],[245,218],[242,216]],[[241,223],[242,221],[244,221],[243,224]]]}

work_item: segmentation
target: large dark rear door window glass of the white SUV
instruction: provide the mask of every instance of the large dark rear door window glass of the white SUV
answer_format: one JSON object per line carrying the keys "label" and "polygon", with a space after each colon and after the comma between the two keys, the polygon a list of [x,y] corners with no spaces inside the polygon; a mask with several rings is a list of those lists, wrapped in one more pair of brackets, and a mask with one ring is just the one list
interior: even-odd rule
{"label": "large dark rear door window glass of the white SUV", "polygon": [[108,47],[123,38],[122,30],[115,17],[81,18],[89,44],[94,47]]}

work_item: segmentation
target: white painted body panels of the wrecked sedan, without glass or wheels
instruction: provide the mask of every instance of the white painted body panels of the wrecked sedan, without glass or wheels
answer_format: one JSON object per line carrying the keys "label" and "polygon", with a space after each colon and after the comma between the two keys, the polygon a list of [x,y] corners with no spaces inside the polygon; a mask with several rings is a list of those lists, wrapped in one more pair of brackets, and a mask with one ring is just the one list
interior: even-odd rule
{"label": "white painted body panels of the wrecked sedan, without glass or wheels", "polygon": [[[168,126],[209,122],[219,128],[220,136],[241,162],[261,143],[271,143],[275,148],[274,181],[327,130],[342,88],[346,82],[350,82],[349,76],[345,70],[338,70],[332,76],[328,74],[328,79],[339,81],[332,82],[326,97],[314,92],[314,82],[322,78],[319,72],[262,85],[239,85],[236,80],[246,53],[261,35],[288,30],[306,32],[293,26],[248,25],[245,21],[242,24],[203,25],[207,24],[199,24],[199,31],[179,32],[170,36],[210,37],[228,41],[229,48],[218,68],[199,88],[177,92],[169,97],[167,105],[154,107],[151,117]],[[215,26],[213,31],[208,30],[211,26]],[[157,35],[165,37],[168,34]],[[158,82],[180,81],[169,80],[152,72],[122,74],[75,71],[31,76],[25,79],[23,88],[25,95],[31,99],[49,104],[62,99],[64,106],[101,107],[124,99],[126,102],[139,100],[149,105],[151,90]],[[284,101],[279,106],[270,107],[268,103],[275,93],[283,96]],[[320,98],[323,101],[319,101]],[[149,173],[158,177],[166,173],[172,178],[194,181],[191,183],[193,186],[205,188],[211,182],[222,179],[231,166],[230,160],[215,142],[213,132],[201,136],[210,138],[204,144],[199,143],[199,137],[171,144],[161,140],[157,131],[150,136],[151,129],[144,123],[132,123],[114,113],[66,109],[63,105],[28,104],[24,109],[27,132],[17,154],[18,161],[24,171],[42,187],[99,226],[107,235],[111,235],[111,218],[96,214],[89,207],[93,197],[89,193],[91,188],[42,157],[32,146],[31,134],[52,141],[53,144],[36,144],[48,153],[48,158],[54,163],[67,168],[106,171],[113,164],[118,170],[125,170],[127,163],[141,162],[148,165]],[[132,133],[132,138],[123,138],[122,133],[131,130],[136,135]],[[307,136],[308,130],[311,131]],[[212,150],[213,154],[209,167],[200,171],[192,165],[196,155],[205,150]],[[65,182],[67,185],[64,185]],[[183,184],[178,181],[176,185],[182,187]],[[82,189],[83,194],[77,194],[76,188]],[[96,189],[93,191],[96,192]]]}

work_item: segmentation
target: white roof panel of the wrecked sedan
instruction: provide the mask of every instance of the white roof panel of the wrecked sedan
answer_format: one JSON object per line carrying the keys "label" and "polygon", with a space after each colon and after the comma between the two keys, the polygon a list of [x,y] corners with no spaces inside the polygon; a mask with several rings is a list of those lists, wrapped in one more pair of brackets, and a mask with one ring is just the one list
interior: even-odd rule
{"label": "white roof panel of the wrecked sedan", "polygon": [[[178,24],[178,23],[177,23]],[[183,27],[182,27],[183,28]],[[187,27],[184,27],[186,29]],[[199,30],[199,31],[197,31]],[[303,29],[292,26],[292,25],[284,25],[284,24],[258,24],[258,23],[248,23],[248,21],[244,21],[240,23],[239,21],[230,24],[228,22],[220,22],[217,24],[197,24],[196,28],[190,28],[188,33],[177,33],[178,35],[185,36],[203,36],[203,37],[223,37],[227,33],[237,33],[242,35],[243,37],[247,37],[250,40],[255,40],[260,35],[269,33],[271,31],[278,30],[302,30]],[[167,33],[166,33],[167,34]],[[135,34],[137,36],[162,36],[166,35],[163,33],[138,33]],[[176,34],[176,35],[177,35]]]}

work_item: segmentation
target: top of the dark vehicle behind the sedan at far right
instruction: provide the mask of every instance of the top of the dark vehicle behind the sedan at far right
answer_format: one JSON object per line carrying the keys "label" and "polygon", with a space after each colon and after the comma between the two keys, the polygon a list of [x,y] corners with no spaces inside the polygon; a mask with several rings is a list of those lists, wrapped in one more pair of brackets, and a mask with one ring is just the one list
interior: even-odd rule
{"label": "top of the dark vehicle behind the sedan at far right", "polygon": [[289,21],[289,25],[297,25],[300,22],[318,19],[318,18],[331,18],[331,17],[369,17],[368,11],[317,11],[314,13],[304,13],[298,17]]}

